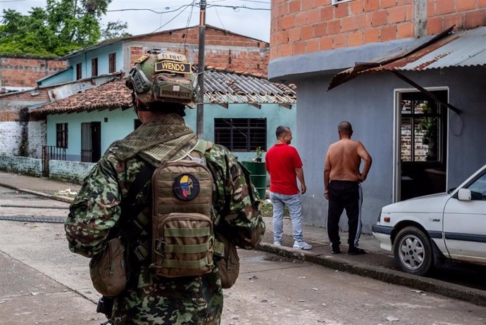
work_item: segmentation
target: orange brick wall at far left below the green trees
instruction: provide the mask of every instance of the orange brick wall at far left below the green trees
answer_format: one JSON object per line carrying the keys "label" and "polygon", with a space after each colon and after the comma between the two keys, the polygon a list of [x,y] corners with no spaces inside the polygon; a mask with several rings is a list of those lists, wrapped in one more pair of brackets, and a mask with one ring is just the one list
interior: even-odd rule
{"label": "orange brick wall at far left below the green trees", "polygon": [[0,87],[36,87],[36,80],[66,69],[65,60],[0,56]]}

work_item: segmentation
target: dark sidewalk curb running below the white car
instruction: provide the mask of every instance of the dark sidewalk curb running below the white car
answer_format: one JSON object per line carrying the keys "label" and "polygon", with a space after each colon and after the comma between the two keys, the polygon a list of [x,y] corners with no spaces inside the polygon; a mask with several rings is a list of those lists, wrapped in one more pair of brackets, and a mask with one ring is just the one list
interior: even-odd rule
{"label": "dark sidewalk curb running below the white car", "polygon": [[[302,260],[310,262],[330,269],[366,276],[371,279],[382,281],[385,283],[397,284],[399,286],[407,286],[420,291],[427,291],[430,293],[438,293],[449,298],[464,300],[475,305],[486,307],[486,292],[466,286],[460,286],[455,283],[440,281],[437,279],[425,278],[422,276],[415,276],[413,274],[406,274],[404,272],[387,269],[385,267],[375,267],[366,265],[361,262],[349,262],[338,260],[333,257],[325,255],[314,254],[310,252],[298,253],[293,248],[277,247],[269,243],[260,243],[256,247],[258,250],[273,253],[282,257],[290,259]],[[373,253],[368,253],[373,254]]]}

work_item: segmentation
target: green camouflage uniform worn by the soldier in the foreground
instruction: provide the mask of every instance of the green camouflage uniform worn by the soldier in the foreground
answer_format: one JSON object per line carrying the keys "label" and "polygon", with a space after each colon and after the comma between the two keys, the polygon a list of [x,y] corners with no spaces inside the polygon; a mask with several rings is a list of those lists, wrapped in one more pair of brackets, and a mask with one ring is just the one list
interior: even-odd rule
{"label": "green camouflage uniform worn by the soldier in the foreground", "polygon": [[[73,253],[93,257],[104,249],[110,230],[120,220],[120,203],[147,164],[141,157],[152,148],[170,146],[166,136],[187,129],[182,117],[176,114],[158,115],[108,148],[70,207],[65,228]],[[150,139],[140,136],[147,132],[153,135]],[[194,134],[186,136],[194,137],[188,146],[197,141]],[[126,150],[127,139],[132,144],[139,141],[139,146],[144,148]],[[188,152],[187,148],[182,151],[185,151],[182,155]],[[180,152],[175,156],[180,156]],[[242,167],[227,148],[213,145],[205,158],[214,178],[215,224],[240,248],[254,248],[265,231],[258,201],[251,199],[257,198],[254,186],[249,184]],[[145,186],[136,200],[144,207],[142,213],[150,218],[151,186]],[[151,234],[151,229],[147,229],[147,234]],[[219,324],[222,309],[223,291],[217,268],[204,276],[166,279],[154,276],[147,266],[142,266],[137,274],[130,276],[125,292],[116,298],[113,321],[144,325]]]}

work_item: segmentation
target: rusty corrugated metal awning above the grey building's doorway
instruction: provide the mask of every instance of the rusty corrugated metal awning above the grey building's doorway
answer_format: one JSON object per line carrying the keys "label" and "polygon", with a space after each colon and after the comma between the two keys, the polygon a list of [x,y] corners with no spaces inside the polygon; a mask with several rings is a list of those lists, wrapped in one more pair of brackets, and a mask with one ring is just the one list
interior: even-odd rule
{"label": "rusty corrugated metal awning above the grey building's doorway", "polygon": [[[452,33],[452,29],[453,27],[450,27],[408,53],[400,53],[394,57],[376,58],[369,63],[356,63],[353,68],[335,75],[330,82],[328,91],[359,75],[390,71],[426,96],[438,101],[433,94],[405,77],[402,72],[486,65],[486,27],[454,33]],[[454,112],[460,113],[460,110],[450,103],[439,102],[454,110]]]}

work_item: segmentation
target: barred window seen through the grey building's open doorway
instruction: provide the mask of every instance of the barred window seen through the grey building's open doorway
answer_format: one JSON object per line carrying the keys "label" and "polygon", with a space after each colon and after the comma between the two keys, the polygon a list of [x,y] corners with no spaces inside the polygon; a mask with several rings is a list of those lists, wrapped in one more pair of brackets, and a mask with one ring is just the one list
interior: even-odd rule
{"label": "barred window seen through the grey building's open doorway", "polygon": [[[432,91],[447,96],[447,91]],[[446,97],[447,100],[447,97]],[[446,113],[442,105],[420,92],[401,94],[401,161],[441,162]]]}

